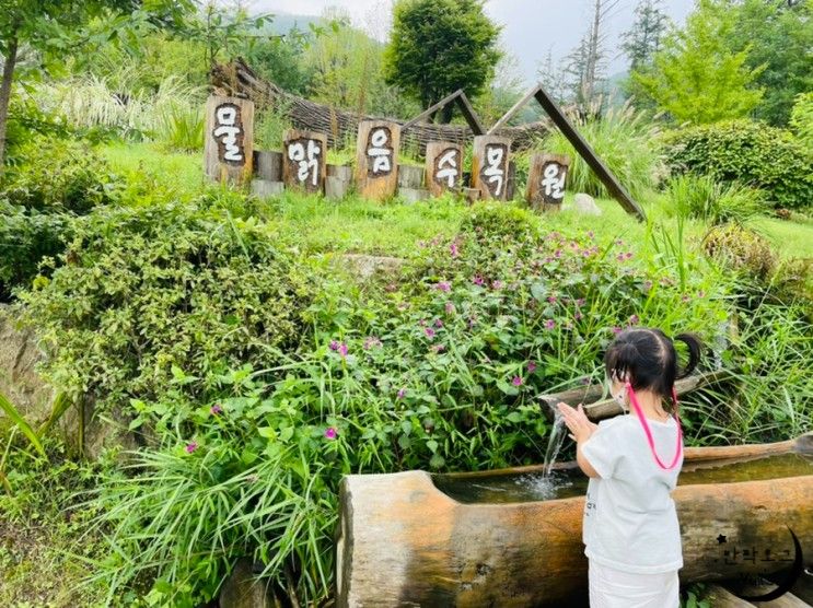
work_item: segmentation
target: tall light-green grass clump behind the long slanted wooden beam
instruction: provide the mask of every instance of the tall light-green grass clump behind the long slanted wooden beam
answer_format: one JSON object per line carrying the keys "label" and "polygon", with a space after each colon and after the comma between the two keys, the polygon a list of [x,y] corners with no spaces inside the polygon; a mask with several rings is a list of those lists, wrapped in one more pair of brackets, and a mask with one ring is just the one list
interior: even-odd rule
{"label": "tall light-green grass clump behind the long slanted wooden beam", "polygon": [[[634,197],[653,188],[663,173],[653,141],[658,127],[649,116],[636,112],[630,104],[611,108],[601,118],[577,118],[576,127]],[[571,159],[567,188],[595,197],[607,198],[606,187],[596,177],[568,139],[556,130],[544,139],[541,151],[567,154]]]}

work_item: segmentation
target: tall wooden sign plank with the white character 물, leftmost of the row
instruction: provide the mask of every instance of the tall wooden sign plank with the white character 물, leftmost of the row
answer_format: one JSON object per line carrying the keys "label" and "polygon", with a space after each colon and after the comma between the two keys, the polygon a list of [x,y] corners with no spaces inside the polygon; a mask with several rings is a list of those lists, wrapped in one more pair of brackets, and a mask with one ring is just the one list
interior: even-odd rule
{"label": "tall wooden sign plank with the white character \ubb3c, leftmost of the row", "polygon": [[254,162],[254,102],[211,95],[206,102],[204,171],[217,182],[243,183]]}

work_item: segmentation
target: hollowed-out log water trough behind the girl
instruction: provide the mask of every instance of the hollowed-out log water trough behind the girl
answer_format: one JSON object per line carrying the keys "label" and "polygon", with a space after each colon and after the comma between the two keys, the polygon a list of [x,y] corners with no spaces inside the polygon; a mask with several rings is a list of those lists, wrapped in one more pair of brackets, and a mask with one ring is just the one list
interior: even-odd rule
{"label": "hollowed-out log water trough behind the girl", "polygon": [[[585,599],[586,480],[573,463],[549,500],[542,466],[455,475],[348,476],[340,487],[337,605],[569,606]],[[530,489],[529,489],[530,488]],[[673,493],[681,580],[721,581],[813,561],[813,434],[692,448]]]}

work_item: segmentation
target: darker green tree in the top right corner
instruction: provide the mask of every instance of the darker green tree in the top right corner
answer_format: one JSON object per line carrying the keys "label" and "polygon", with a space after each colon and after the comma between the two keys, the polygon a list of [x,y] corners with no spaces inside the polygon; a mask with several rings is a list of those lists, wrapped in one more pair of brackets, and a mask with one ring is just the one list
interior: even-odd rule
{"label": "darker green tree in the top right corner", "polygon": [[765,89],[765,96],[754,114],[785,126],[797,95],[813,91],[813,1],[744,0],[731,10],[736,25],[725,39],[729,48],[750,49],[748,68],[764,66],[755,83]]}

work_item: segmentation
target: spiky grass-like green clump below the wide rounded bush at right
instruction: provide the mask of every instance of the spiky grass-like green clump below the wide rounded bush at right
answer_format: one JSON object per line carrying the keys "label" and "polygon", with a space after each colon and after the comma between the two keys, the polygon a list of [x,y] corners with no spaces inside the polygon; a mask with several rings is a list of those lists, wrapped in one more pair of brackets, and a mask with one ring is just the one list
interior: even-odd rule
{"label": "spiky grass-like green clump below the wide rounded bush at right", "polygon": [[711,224],[745,223],[760,209],[763,194],[737,183],[722,185],[708,175],[680,175],[666,186],[672,208]]}

